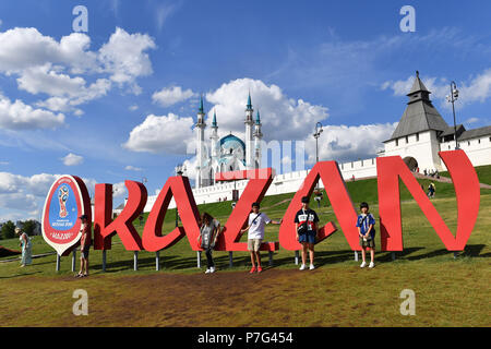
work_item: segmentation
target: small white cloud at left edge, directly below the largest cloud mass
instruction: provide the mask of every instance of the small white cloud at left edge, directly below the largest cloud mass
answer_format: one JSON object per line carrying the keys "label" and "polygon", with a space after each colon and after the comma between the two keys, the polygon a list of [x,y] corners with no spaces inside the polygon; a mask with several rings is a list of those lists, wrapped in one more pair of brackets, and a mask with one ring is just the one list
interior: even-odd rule
{"label": "small white cloud at left edge, directly below the largest cloud mass", "polygon": [[62,113],[55,115],[49,110],[34,109],[20,99],[12,103],[0,94],[0,129],[56,129],[63,123]]}

